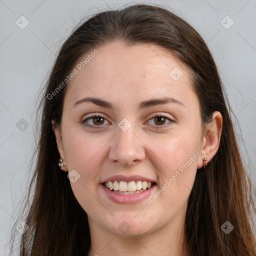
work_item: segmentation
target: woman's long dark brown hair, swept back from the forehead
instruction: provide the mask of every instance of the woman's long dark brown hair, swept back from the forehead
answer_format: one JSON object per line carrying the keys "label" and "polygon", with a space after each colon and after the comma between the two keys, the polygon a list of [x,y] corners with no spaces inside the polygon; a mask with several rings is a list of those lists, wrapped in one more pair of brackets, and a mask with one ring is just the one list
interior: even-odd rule
{"label": "woman's long dark brown hair, swept back from the forehead", "polygon": [[[47,95],[65,80],[83,54],[116,40],[126,45],[153,43],[172,52],[190,70],[202,123],[211,121],[213,111],[223,117],[218,151],[203,171],[197,169],[188,198],[183,242],[189,255],[255,256],[254,190],[242,163],[216,64],[191,25],[165,8],[147,4],[96,13],[76,27],[60,48],[41,101],[36,166],[26,204],[31,192],[33,197],[24,218],[29,229],[21,236],[20,255],[77,256],[89,251],[87,214],[66,172],[57,166],[59,152],[51,123],[61,123],[68,83],[54,97]],[[227,220],[234,226],[229,234],[220,228]]]}

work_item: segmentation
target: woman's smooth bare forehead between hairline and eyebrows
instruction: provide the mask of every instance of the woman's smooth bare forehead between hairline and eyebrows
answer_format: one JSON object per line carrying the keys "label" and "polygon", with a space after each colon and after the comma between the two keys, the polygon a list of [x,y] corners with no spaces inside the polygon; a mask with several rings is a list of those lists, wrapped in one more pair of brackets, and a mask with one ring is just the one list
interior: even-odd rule
{"label": "woman's smooth bare forehead between hairline and eyebrows", "polygon": [[162,96],[177,91],[185,94],[191,87],[185,65],[161,46],[146,43],[128,46],[116,41],[96,48],[97,54],[86,52],[74,66],[77,74],[67,88],[73,100],[82,94],[101,98],[111,94],[116,99],[141,101],[141,97],[151,98],[154,94]]}

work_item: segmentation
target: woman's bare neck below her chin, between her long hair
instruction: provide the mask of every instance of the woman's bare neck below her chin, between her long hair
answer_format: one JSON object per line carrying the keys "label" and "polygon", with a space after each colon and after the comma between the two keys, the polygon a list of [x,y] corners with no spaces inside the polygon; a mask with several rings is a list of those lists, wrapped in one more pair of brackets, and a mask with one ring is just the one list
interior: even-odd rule
{"label": "woman's bare neck below her chin, between her long hair", "polygon": [[91,247],[88,256],[157,255],[189,256],[185,248],[184,215],[178,215],[156,231],[147,234],[119,236],[89,219]]}

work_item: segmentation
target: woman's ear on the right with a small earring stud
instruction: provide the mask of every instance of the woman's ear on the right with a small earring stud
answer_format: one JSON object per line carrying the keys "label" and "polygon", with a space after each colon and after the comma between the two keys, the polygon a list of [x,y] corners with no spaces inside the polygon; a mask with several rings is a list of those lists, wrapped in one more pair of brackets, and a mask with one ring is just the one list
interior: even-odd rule
{"label": "woman's ear on the right with a small earring stud", "polygon": [[212,113],[212,121],[206,124],[202,145],[201,145],[201,160],[198,161],[197,168],[201,168],[204,165],[203,159],[207,158],[205,163],[208,163],[216,154],[220,136],[222,131],[222,115],[219,111]]}

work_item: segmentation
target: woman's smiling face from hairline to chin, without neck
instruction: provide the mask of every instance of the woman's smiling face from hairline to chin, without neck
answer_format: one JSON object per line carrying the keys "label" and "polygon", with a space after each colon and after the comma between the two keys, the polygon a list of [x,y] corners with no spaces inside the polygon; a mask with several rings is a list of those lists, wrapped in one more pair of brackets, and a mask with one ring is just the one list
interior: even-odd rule
{"label": "woman's smiling face from hairline to chin, without neck", "polygon": [[153,44],[116,41],[97,49],[76,67],[55,131],[72,191],[90,228],[126,236],[178,228],[202,166],[189,71]]}

